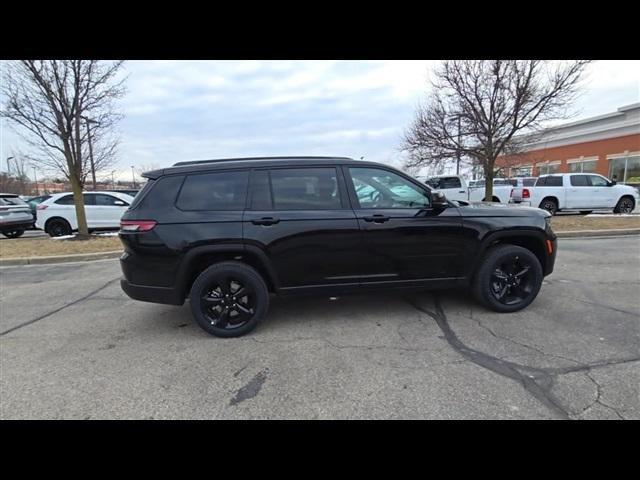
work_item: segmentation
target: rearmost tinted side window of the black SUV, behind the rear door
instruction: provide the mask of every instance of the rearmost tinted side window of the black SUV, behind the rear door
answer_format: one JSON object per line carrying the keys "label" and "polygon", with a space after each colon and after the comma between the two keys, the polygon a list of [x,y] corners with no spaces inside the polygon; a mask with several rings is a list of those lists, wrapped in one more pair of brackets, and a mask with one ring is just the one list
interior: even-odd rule
{"label": "rearmost tinted side window of the black SUV, behind the rear door", "polygon": [[189,175],[176,205],[182,210],[243,210],[248,177],[247,171]]}

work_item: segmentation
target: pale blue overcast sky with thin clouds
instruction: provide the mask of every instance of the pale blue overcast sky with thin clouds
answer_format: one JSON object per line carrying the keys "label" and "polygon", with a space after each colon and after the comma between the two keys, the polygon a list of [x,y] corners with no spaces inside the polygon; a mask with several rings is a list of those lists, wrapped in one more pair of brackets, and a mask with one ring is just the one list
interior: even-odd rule
{"label": "pale blue overcast sky with thin clouds", "polygon": [[[118,177],[131,165],[262,155],[398,162],[436,61],[130,61]],[[575,119],[640,101],[640,61],[598,61]],[[6,120],[2,120],[6,122]],[[2,169],[19,140],[4,124]]]}

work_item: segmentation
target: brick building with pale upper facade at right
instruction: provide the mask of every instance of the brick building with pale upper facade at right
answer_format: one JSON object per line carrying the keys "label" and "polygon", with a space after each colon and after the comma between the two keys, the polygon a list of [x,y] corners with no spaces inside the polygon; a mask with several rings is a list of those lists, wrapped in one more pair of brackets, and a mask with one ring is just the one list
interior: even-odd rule
{"label": "brick building with pale upper facade at right", "polygon": [[640,103],[547,129],[521,153],[496,163],[508,177],[595,172],[640,184]]}

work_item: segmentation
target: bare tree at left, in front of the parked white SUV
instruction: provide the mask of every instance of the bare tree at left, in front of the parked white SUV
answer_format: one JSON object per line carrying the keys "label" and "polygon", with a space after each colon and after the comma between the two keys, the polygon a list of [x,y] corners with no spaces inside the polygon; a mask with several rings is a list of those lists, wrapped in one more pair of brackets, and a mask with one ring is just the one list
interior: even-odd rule
{"label": "bare tree at left, in front of the parked white SUV", "polygon": [[124,95],[122,62],[21,60],[7,63],[1,86],[9,118],[32,147],[30,161],[62,173],[73,190],[78,231],[88,237],[82,189],[91,172],[87,122],[96,170],[115,159],[115,101]]}

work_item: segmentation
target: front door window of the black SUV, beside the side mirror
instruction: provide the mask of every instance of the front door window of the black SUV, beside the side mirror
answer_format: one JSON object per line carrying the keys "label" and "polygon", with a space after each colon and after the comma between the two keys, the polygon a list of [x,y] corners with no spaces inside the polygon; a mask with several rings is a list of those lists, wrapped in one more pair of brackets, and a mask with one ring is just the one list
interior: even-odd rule
{"label": "front door window of the black SUV, beside the side mirror", "polygon": [[377,168],[350,168],[360,208],[424,208],[426,191],[407,179]]}

